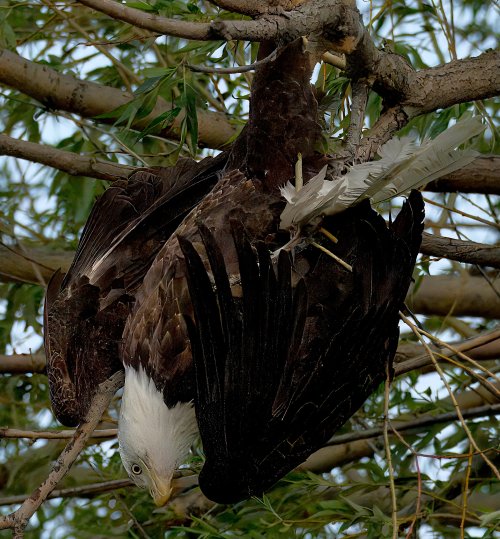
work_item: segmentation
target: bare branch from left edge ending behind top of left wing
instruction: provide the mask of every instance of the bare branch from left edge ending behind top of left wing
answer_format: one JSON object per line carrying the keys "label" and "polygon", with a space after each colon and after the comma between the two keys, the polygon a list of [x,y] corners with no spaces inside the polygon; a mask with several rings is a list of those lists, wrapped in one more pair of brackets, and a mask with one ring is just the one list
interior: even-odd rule
{"label": "bare branch from left edge ending behind top of left wing", "polygon": [[0,133],[0,155],[10,155],[40,163],[73,176],[88,176],[100,180],[113,181],[127,178],[135,167],[120,165],[73,152],[66,152],[43,144],[35,144],[11,138]]}

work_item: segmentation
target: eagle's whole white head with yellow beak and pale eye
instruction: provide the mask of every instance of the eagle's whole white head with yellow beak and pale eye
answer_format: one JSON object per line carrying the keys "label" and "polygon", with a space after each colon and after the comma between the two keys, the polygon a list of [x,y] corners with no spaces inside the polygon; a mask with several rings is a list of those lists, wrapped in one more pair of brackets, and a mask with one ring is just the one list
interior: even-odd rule
{"label": "eagle's whole white head with yellow beak and pale eye", "polygon": [[132,481],[147,488],[156,505],[165,505],[170,498],[174,472],[186,460],[197,434],[192,403],[168,408],[143,369],[125,367],[120,456]]}

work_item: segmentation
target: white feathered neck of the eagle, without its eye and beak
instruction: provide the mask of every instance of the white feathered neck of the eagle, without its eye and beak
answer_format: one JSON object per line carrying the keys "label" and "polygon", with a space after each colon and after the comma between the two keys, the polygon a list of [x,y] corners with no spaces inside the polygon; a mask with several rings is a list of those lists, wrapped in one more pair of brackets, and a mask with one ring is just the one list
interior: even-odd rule
{"label": "white feathered neck of the eagle, without its eye and beak", "polygon": [[125,367],[118,430],[122,449],[147,449],[152,462],[172,470],[185,462],[198,434],[192,402],[168,407],[153,380],[133,367]]}

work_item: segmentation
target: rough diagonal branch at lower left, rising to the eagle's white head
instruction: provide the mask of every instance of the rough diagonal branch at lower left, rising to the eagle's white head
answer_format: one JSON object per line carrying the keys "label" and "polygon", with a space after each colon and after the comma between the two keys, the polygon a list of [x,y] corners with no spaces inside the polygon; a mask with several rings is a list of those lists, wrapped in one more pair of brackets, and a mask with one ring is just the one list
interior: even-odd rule
{"label": "rough diagonal branch at lower left, rising to the eagle's white head", "polygon": [[115,392],[123,385],[123,372],[115,373],[109,380],[99,386],[97,394],[92,399],[92,405],[85,421],[76,429],[75,435],[64,448],[47,479],[24,500],[19,509],[0,518],[0,529],[12,528],[14,539],[23,537],[23,532],[30,518],[35,514],[47,496],[66,475],[73,462],[85,447],[87,439],[99,423],[102,414],[108,407]]}

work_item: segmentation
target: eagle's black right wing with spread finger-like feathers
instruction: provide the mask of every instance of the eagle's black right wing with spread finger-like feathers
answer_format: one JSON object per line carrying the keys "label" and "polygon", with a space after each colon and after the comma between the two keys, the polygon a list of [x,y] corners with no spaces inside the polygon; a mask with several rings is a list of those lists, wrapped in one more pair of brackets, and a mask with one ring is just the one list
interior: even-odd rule
{"label": "eagle's black right wing with spread finger-like feathers", "polygon": [[206,454],[200,486],[209,498],[260,495],[384,379],[422,220],[417,193],[389,228],[368,204],[331,218],[335,252],[353,272],[310,248],[298,255],[309,257],[309,269],[296,287],[288,255],[280,255],[275,275],[265,249],[252,249],[236,228],[241,298],[210,233],[202,237],[213,284],[197,251],[180,239],[196,321],[188,327]]}

